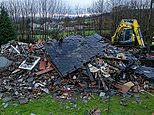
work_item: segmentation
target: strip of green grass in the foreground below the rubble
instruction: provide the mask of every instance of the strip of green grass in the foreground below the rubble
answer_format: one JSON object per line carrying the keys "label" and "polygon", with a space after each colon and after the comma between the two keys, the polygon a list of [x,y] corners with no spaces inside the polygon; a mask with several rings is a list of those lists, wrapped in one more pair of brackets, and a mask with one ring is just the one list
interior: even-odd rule
{"label": "strip of green grass in the foreground below the rubble", "polygon": [[[134,104],[136,97],[126,99],[127,106],[120,105],[124,97],[112,96],[110,103],[110,115],[151,115],[154,112],[154,97],[140,94],[141,104]],[[74,103],[74,104],[73,104]],[[75,105],[75,106],[74,106]],[[3,108],[0,101],[0,115],[86,115],[90,109],[99,108],[101,115],[107,114],[108,100],[96,95],[88,102],[83,99],[55,100],[50,95],[44,95],[39,99],[31,100],[28,104],[19,105],[18,102],[9,102],[7,108]]]}

